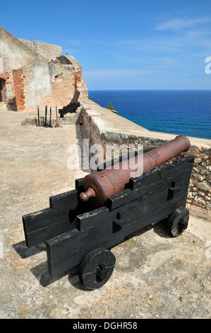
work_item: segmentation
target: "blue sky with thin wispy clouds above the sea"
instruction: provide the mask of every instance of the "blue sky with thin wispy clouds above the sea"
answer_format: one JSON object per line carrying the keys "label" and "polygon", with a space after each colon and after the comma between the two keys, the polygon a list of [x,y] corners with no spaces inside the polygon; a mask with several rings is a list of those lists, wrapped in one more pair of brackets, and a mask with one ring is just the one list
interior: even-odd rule
{"label": "blue sky with thin wispy clouds above the sea", "polygon": [[61,45],[88,89],[210,89],[210,0],[1,1],[0,26]]}

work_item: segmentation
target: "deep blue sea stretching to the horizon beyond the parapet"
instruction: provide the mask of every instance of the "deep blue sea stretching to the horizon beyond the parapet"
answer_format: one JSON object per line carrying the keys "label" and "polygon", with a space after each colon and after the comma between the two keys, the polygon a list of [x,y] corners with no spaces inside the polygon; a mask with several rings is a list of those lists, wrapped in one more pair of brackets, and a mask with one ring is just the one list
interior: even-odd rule
{"label": "deep blue sea stretching to the horizon beyond the parapet", "polygon": [[211,139],[211,91],[89,91],[92,101],[110,102],[124,118],[156,132]]}

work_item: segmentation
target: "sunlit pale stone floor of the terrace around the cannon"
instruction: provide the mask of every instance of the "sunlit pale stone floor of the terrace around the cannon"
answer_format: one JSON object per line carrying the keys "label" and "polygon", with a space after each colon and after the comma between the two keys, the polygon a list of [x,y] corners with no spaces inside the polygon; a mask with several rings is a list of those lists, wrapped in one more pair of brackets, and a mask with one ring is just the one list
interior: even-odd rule
{"label": "sunlit pale stone floor of the terrace around the cannon", "polygon": [[82,137],[74,125],[21,126],[26,117],[0,112],[0,317],[209,317],[211,224],[193,216],[178,238],[155,225],[114,247],[116,268],[101,289],[84,290],[77,275],[49,277],[44,249],[25,246],[21,217],[85,175],[67,167],[68,145]]}

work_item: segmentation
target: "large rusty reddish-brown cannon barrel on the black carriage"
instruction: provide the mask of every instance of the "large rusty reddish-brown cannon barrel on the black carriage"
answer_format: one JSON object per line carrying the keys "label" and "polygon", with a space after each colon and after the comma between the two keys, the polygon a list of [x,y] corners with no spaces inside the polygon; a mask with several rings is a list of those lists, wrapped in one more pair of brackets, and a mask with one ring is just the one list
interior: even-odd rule
{"label": "large rusty reddish-brown cannon barrel on the black carriage", "polygon": [[[163,145],[151,149],[143,154],[143,172],[154,168],[155,166],[167,162],[181,152],[185,152],[191,147],[188,137],[178,135],[174,140],[164,143]],[[119,169],[104,169],[96,174],[85,176],[83,186],[85,192],[80,193],[81,201],[90,201],[95,206],[102,206],[106,203],[109,196],[113,196],[124,190],[125,185],[133,176],[140,174],[140,169],[134,169],[134,164],[138,162],[138,156],[135,157],[134,163],[128,159],[127,168],[123,167],[123,162],[119,163]],[[133,165],[133,167],[131,167]]]}

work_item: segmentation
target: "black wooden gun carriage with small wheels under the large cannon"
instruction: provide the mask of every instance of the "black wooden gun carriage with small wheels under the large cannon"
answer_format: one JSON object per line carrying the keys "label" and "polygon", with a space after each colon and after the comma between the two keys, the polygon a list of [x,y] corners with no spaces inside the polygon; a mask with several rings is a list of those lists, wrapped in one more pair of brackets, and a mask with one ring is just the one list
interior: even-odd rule
{"label": "black wooden gun carriage with small wheels under the large cannon", "polygon": [[50,276],[78,266],[85,287],[100,288],[114,270],[111,247],[164,219],[172,237],[186,229],[193,160],[192,156],[174,159],[131,178],[124,191],[97,209],[80,201],[83,179],[77,179],[75,190],[49,198],[49,208],[23,216],[27,246],[46,243]]}

